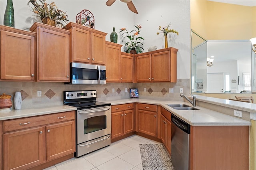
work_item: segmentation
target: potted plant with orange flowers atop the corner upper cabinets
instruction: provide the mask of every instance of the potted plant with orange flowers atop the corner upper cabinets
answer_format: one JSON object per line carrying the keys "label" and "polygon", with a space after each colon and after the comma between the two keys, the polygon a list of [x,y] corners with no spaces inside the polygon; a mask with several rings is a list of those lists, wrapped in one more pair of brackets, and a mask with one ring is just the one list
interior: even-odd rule
{"label": "potted plant with orange flowers atop the corner upper cabinets", "polygon": [[139,37],[138,35],[140,34],[140,28],[142,28],[141,25],[137,25],[135,26],[137,28],[137,30],[132,30],[130,32],[130,34],[132,34],[132,32],[135,32],[133,33],[132,35],[130,35],[128,33],[128,31],[126,30],[126,28],[122,28],[120,29],[121,31],[120,32],[123,32],[122,33],[122,37],[124,34],[127,34],[123,40],[125,38],[129,38],[130,42],[126,42],[125,45],[124,45],[124,51],[126,53],[133,53],[133,54],[137,54],[137,53],[142,53],[142,51],[144,51],[143,49],[143,43],[142,42],[139,42],[140,40],[144,40],[144,38],[142,37]]}

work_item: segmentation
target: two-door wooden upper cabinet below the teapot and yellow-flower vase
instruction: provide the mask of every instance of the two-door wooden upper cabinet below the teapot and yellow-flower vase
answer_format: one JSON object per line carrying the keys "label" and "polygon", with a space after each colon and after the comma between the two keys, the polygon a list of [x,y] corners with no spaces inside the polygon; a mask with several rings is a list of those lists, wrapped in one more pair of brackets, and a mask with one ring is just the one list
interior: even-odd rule
{"label": "two-door wooden upper cabinet below the teapot and yellow-flower vase", "polygon": [[176,83],[177,51],[170,47],[136,54],[136,81]]}

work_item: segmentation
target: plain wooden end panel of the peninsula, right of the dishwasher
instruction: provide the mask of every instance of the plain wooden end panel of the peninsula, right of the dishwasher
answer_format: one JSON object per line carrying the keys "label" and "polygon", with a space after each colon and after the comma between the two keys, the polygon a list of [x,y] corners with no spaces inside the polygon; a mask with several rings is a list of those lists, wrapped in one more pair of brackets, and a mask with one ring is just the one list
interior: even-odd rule
{"label": "plain wooden end panel of the peninsula, right of the dishwasher", "polygon": [[248,170],[248,126],[190,126],[191,170]]}

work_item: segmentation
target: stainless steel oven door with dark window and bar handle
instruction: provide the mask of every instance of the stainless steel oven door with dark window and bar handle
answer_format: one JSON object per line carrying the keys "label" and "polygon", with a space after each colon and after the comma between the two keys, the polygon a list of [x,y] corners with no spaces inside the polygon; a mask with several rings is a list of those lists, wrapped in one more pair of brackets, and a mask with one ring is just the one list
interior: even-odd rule
{"label": "stainless steel oven door with dark window and bar handle", "polygon": [[77,111],[77,144],[111,133],[110,106]]}

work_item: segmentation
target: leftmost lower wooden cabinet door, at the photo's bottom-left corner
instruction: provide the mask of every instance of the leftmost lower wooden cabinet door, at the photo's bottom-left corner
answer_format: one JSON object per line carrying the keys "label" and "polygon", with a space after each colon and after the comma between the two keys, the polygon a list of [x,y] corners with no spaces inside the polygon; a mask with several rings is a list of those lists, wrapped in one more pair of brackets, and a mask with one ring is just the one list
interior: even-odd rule
{"label": "leftmost lower wooden cabinet door, at the photo's bottom-left corner", "polygon": [[43,162],[45,128],[3,134],[4,170],[28,169]]}

